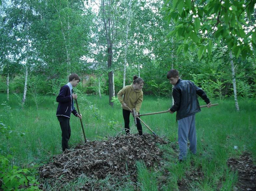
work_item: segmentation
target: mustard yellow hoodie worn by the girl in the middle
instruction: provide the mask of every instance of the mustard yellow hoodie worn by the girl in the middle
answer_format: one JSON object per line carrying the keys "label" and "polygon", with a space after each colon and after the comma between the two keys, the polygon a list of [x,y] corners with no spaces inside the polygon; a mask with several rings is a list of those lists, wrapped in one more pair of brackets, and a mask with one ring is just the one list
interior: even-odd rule
{"label": "mustard yellow hoodie worn by the girl in the middle", "polygon": [[[122,97],[123,95],[124,98]],[[126,103],[130,109],[135,108],[135,111],[139,113],[143,101],[143,92],[141,89],[134,90],[132,84],[127,85],[118,92],[117,97],[121,104]],[[122,108],[129,110],[128,108],[123,107],[123,105]]]}

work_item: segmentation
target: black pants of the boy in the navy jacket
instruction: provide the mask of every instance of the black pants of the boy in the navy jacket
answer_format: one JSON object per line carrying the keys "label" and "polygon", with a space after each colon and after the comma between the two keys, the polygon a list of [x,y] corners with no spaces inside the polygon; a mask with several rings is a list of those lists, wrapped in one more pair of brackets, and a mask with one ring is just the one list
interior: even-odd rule
{"label": "black pants of the boy in the navy jacket", "polygon": [[58,120],[61,125],[61,145],[62,145],[62,151],[65,151],[65,149],[68,149],[68,140],[71,135],[71,129],[70,129],[70,124],[69,124],[69,118],[63,117],[63,116],[57,116]]}

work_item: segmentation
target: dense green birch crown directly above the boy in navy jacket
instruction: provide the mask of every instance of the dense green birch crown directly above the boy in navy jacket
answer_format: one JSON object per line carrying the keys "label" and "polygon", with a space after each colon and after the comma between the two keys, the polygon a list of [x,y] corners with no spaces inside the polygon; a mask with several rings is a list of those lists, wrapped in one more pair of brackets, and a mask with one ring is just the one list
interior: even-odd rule
{"label": "dense green birch crown directly above the boy in navy jacket", "polygon": [[[90,51],[95,16],[85,9],[83,1],[46,0],[34,4],[35,12],[40,15],[34,35],[41,44],[40,59],[52,80],[82,72],[86,67],[82,57]],[[58,79],[53,78],[56,75]]]}

